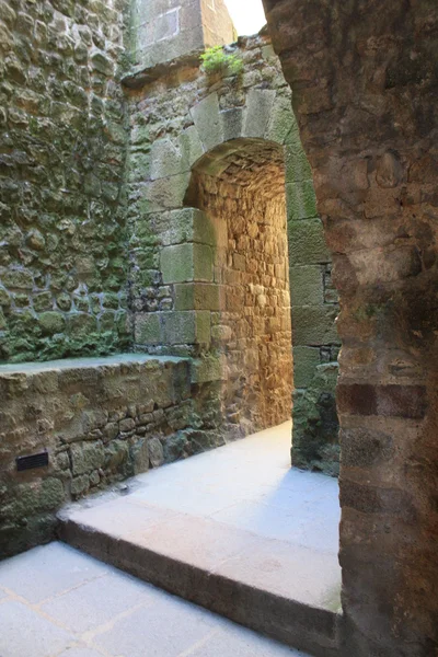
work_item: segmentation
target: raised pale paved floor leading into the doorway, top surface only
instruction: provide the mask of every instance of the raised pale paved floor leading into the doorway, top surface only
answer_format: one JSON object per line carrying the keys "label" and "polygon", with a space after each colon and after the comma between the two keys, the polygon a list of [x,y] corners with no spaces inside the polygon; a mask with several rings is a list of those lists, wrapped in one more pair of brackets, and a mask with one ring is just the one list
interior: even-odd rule
{"label": "raised pale paved floor leading into the doorway, top surface only", "polygon": [[290,468],[291,423],[159,468],[69,516],[257,589],[341,606],[337,480]]}

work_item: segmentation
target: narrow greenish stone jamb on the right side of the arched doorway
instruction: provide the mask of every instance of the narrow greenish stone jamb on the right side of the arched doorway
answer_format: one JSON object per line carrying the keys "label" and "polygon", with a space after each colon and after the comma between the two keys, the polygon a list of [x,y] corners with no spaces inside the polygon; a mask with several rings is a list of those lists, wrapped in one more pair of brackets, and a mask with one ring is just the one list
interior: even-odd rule
{"label": "narrow greenish stone jamb on the right side of the arched doorway", "polygon": [[295,118],[291,125],[286,140],[286,196],[293,345],[292,465],[337,475],[339,337],[335,320],[339,307],[312,173]]}

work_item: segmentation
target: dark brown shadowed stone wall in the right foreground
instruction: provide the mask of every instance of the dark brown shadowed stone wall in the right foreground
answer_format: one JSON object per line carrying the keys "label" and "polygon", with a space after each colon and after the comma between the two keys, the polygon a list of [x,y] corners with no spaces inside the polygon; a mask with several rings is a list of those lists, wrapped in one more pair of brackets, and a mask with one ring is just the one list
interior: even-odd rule
{"label": "dark brown shadowed stone wall in the right foreground", "polygon": [[334,255],[343,655],[438,654],[438,7],[265,0]]}

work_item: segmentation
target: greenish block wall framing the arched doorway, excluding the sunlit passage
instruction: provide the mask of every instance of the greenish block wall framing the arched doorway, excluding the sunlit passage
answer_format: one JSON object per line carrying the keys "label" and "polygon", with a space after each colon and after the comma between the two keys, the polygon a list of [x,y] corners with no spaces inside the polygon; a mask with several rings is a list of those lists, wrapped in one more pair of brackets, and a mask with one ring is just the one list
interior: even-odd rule
{"label": "greenish block wall framing the arched doorway, excluding the sunlit passage", "polygon": [[[151,353],[199,357],[209,351],[211,322],[205,311],[218,310],[218,301],[210,296],[204,300],[207,306],[197,301],[198,306],[189,307],[182,297],[184,286],[199,289],[197,284],[214,280],[211,249],[216,237],[210,219],[189,208],[181,209],[184,203],[195,203],[186,199],[192,168],[208,153],[212,171],[222,166],[218,160],[227,157],[227,142],[232,147],[239,138],[275,142],[286,158],[297,387],[293,461],[336,473],[337,419],[333,408],[338,337],[334,320],[338,307],[311,173],[291,113],[290,92],[268,37],[240,39],[231,50],[244,61],[239,79],[208,77],[198,64],[174,60],[166,68],[124,81],[131,122],[129,230],[135,339],[137,348]],[[212,153],[220,145],[222,155],[218,150]],[[171,269],[172,262],[180,263],[178,272]],[[218,370],[220,365],[212,364],[204,368],[203,376],[216,376]]]}

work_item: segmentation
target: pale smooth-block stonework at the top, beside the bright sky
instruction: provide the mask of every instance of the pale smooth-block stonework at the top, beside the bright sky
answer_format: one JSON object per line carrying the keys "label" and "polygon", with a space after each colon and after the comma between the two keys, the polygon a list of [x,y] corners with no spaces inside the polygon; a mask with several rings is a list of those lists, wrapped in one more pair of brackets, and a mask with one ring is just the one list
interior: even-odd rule
{"label": "pale smooth-block stonework at the top, beside the bright sky", "polygon": [[223,0],[134,0],[130,58],[139,69],[235,38]]}

